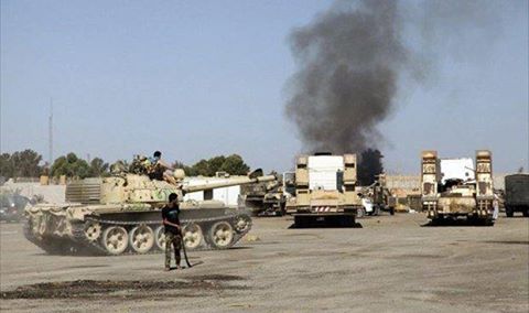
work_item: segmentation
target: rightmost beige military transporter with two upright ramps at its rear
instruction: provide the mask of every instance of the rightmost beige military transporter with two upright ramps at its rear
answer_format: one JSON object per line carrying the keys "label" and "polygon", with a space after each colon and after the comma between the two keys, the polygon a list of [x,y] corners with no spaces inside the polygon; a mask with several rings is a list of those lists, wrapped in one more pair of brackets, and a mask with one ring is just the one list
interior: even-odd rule
{"label": "rightmost beige military transporter with two upright ramps at its rear", "polygon": [[474,169],[469,158],[439,159],[436,151],[422,152],[422,206],[433,223],[466,217],[494,225],[490,151],[476,151],[475,161]]}

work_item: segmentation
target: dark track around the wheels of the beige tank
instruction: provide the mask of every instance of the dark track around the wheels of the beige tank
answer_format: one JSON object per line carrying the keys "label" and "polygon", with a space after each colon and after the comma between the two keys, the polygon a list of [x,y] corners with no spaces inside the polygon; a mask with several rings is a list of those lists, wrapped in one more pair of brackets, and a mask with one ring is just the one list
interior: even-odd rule
{"label": "dark track around the wheels of the beige tank", "polygon": [[[237,229],[237,220],[239,217],[244,217],[247,220],[247,227],[240,230]],[[106,226],[122,226],[126,229],[132,228],[139,225],[148,225],[155,229],[156,227],[161,226],[160,220],[141,220],[141,222],[122,222],[122,220],[112,220],[112,219],[104,219],[98,216],[90,216],[87,217],[84,222],[73,223],[72,224],[72,238],[64,239],[64,238],[37,238],[31,230],[30,222],[26,220],[24,223],[24,236],[25,238],[34,244],[35,246],[40,247],[41,249],[45,250],[48,253],[80,253],[80,255],[106,255],[106,256],[122,256],[122,255],[140,255],[139,252],[134,251],[130,247],[127,248],[126,251],[119,255],[115,255],[109,252],[104,245],[101,244],[101,236],[97,240],[89,240],[85,235],[85,225],[86,223],[99,223],[101,225],[101,229]],[[219,248],[216,247],[210,242],[209,231],[214,224],[218,222],[227,222],[233,227],[233,239],[231,241]],[[185,227],[187,224],[195,223],[201,226],[203,229],[203,240],[201,246],[187,250],[190,251],[203,251],[203,250],[219,250],[219,249],[229,249],[234,245],[236,245],[242,237],[245,237],[248,231],[251,229],[251,217],[246,213],[236,213],[229,215],[223,215],[218,217],[208,217],[208,218],[193,218],[193,219],[182,219],[182,226]],[[153,247],[147,251],[142,252],[141,255],[150,255],[150,253],[161,253],[163,250],[159,249],[156,244],[154,242]]]}

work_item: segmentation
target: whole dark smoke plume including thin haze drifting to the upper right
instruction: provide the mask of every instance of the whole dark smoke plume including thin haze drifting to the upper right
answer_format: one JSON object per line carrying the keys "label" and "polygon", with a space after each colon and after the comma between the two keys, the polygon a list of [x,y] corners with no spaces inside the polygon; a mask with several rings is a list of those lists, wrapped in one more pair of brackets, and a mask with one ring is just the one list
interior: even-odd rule
{"label": "whole dark smoke plume including thin haze drifting to the upper right", "polygon": [[[423,82],[434,68],[434,53],[443,48],[434,48],[434,41],[450,36],[452,47],[471,42],[481,48],[479,39],[462,33],[473,26],[489,33],[486,25],[495,25],[494,10],[483,2],[339,1],[294,30],[289,40],[298,71],[287,85],[285,112],[304,150],[359,153],[378,147],[384,137],[377,126],[395,109],[400,79]],[[404,41],[404,30],[415,39]]]}

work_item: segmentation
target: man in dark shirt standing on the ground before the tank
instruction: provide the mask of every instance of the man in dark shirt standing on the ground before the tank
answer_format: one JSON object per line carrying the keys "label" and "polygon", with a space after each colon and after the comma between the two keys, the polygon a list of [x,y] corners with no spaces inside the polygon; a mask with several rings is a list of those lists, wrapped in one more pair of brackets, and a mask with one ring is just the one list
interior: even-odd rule
{"label": "man in dark shirt standing on the ground before the tank", "polygon": [[169,204],[162,208],[162,219],[165,226],[165,270],[171,270],[171,246],[174,248],[176,269],[180,266],[180,249],[182,248],[182,228],[180,226],[179,196],[175,193],[169,195]]}

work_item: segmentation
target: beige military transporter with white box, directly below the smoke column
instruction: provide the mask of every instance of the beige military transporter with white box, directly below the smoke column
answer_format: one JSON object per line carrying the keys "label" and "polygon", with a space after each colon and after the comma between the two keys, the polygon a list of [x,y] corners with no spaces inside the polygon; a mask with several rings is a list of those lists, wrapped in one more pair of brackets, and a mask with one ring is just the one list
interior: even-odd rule
{"label": "beige military transporter with white box, directly below the smoke column", "polygon": [[295,165],[295,197],[289,202],[296,227],[353,226],[361,201],[355,192],[356,154],[301,155]]}

